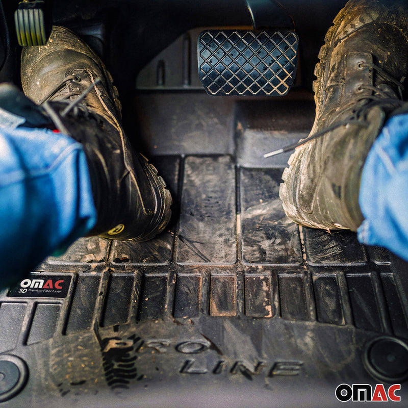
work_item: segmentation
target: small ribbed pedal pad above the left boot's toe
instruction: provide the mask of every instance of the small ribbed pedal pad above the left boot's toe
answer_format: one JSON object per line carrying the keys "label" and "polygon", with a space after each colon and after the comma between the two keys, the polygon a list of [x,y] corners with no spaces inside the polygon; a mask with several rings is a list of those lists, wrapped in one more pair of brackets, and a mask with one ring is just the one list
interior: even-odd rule
{"label": "small ribbed pedal pad above the left boot's toe", "polygon": [[44,15],[45,3],[42,1],[25,0],[18,4],[14,13],[14,22],[20,46],[45,45],[48,36]]}

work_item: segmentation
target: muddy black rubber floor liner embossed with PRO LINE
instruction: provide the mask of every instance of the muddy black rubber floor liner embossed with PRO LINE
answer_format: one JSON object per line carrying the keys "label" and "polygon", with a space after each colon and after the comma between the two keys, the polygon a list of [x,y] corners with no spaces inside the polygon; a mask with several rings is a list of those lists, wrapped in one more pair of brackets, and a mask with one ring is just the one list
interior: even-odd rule
{"label": "muddy black rubber floor liner embossed with PRO LINE", "polygon": [[[330,407],[344,406],[340,384],[405,379],[406,264],[353,233],[290,222],[282,163],[250,167],[234,148],[282,135],[241,108],[220,151],[189,154],[190,140],[154,158],[175,202],[168,231],[80,239],[27,292],[3,293],[0,406]],[[297,134],[299,120],[281,122]],[[406,385],[396,394],[406,401]]]}

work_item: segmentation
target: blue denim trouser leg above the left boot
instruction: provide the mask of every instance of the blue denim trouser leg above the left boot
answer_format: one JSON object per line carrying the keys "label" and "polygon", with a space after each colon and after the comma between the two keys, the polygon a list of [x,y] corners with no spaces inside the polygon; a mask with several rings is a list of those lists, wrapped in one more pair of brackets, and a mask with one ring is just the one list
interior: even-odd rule
{"label": "blue denim trouser leg above the left boot", "polygon": [[0,129],[0,286],[96,222],[82,145],[46,129]]}

